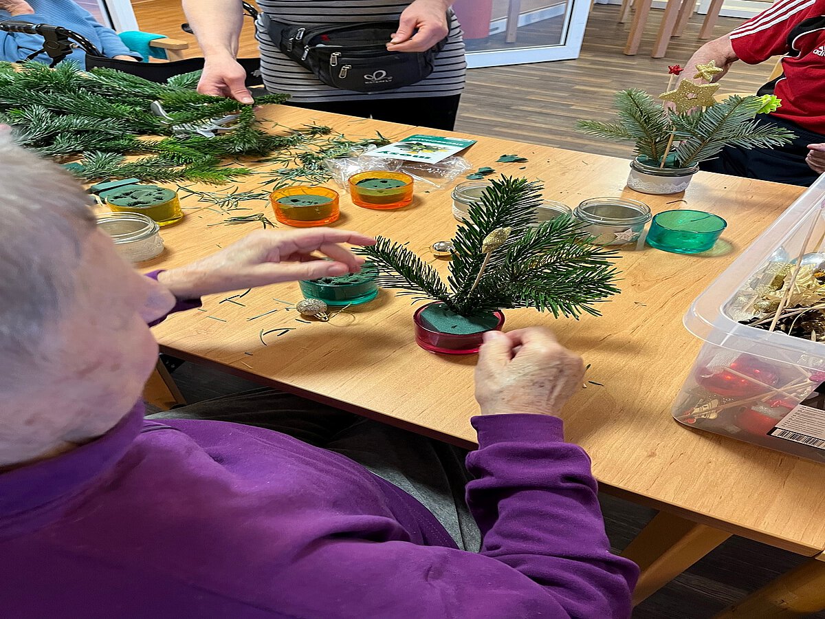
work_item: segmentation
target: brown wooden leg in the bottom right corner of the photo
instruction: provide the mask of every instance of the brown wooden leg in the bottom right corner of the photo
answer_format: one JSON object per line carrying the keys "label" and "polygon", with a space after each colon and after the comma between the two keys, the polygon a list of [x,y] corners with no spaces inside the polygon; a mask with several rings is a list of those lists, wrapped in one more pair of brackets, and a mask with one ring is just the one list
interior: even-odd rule
{"label": "brown wooden leg in the bottom right corner of the photo", "polygon": [[825,558],[819,555],[727,607],[715,619],[780,619],[825,610]]}

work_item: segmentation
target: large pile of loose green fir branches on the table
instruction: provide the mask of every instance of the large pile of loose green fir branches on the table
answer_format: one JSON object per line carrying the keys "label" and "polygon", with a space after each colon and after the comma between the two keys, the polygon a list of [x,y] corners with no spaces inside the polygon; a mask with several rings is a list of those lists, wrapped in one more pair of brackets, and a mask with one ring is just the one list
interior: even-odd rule
{"label": "large pile of loose green fir branches on the table", "polygon": [[[92,182],[137,177],[144,181],[224,183],[251,173],[229,168],[224,159],[263,157],[330,133],[308,127],[290,135],[257,128],[252,106],[194,90],[200,72],[160,84],[114,69],[85,72],[72,63],[0,63],[0,121],[12,125],[19,143],[61,160],[81,158],[73,173]],[[256,105],[281,103],[266,95]],[[212,138],[178,137],[150,105],[162,103],[172,124],[198,124],[238,113],[233,130]],[[147,136],[153,136],[153,139]],[[160,139],[158,139],[160,136]],[[125,155],[144,155],[127,160]]]}

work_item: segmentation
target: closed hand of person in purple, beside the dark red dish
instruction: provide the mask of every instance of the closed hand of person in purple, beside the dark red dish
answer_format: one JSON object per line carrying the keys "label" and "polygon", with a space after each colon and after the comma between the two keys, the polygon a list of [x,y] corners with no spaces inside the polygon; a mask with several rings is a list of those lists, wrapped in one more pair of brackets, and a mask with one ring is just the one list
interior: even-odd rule
{"label": "closed hand of person in purple, beside the dark red dish", "polygon": [[582,387],[581,357],[546,328],[484,334],[475,368],[475,399],[481,414],[558,415]]}

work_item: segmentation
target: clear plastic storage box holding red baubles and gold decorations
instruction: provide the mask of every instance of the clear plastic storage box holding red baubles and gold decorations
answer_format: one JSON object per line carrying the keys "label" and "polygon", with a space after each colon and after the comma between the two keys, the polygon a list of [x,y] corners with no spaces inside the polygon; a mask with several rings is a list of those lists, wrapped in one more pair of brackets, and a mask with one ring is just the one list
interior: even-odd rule
{"label": "clear plastic storage box holding red baubles and gold decorations", "polygon": [[823,201],[820,177],[691,305],[685,326],[705,345],[673,405],[678,422],[825,461],[825,342],[739,322],[800,255],[825,281],[825,255],[813,256],[825,243]]}

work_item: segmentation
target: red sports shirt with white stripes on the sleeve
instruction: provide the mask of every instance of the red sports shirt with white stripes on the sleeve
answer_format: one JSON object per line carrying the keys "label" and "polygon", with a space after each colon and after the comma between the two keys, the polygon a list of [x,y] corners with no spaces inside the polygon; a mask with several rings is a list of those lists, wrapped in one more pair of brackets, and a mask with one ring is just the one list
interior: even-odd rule
{"label": "red sports shirt with white stripes on the sleeve", "polygon": [[730,44],[747,64],[785,54],[782,75],[759,94],[782,100],[771,116],[825,135],[825,0],[780,0],[732,31]]}

